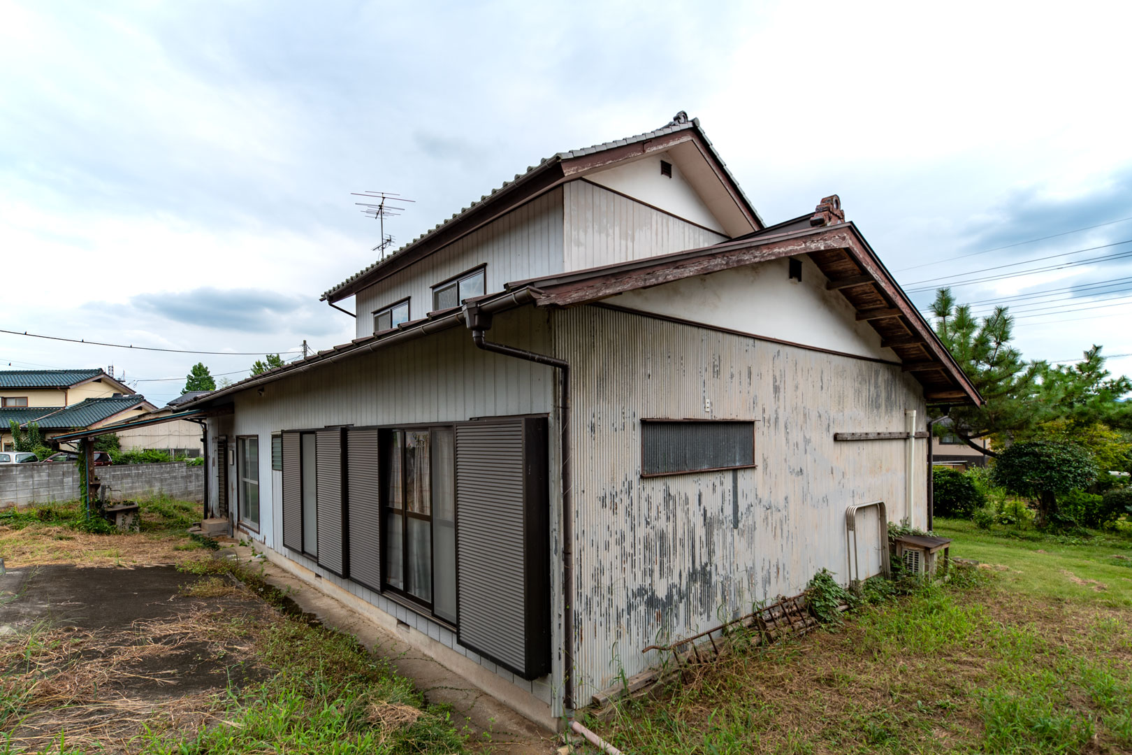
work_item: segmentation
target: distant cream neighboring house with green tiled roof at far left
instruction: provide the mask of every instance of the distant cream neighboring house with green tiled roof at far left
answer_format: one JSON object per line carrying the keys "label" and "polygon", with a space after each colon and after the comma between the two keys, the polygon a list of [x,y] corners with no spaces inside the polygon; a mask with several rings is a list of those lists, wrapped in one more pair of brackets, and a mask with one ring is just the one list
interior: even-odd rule
{"label": "distant cream neighboring house with green tiled roof at far left", "polygon": [[144,396],[100,369],[0,370],[0,448],[12,444],[10,420],[20,426],[35,422],[51,438],[151,409]]}

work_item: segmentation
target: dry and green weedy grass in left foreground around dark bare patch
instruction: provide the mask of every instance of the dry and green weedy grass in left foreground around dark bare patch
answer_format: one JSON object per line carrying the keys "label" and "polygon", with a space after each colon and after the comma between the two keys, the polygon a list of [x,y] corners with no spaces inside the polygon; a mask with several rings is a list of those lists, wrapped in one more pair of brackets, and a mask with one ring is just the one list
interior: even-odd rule
{"label": "dry and green weedy grass in left foreground around dark bare patch", "polygon": [[[264,590],[261,575],[231,561],[211,560],[186,572],[209,575],[194,598],[217,598],[215,585],[226,575],[240,576],[254,593],[282,604],[284,595]],[[231,590],[223,593],[230,597]],[[229,598],[225,598],[229,599]],[[0,755],[22,753],[20,721],[48,714],[67,721],[53,745],[35,752],[72,754],[128,752],[145,755],[252,755],[259,753],[447,754],[464,752],[464,738],[443,706],[428,706],[412,683],[384,660],[371,655],[352,636],[293,618],[248,601],[247,609],[215,608],[138,627],[138,636],[101,637],[66,628],[38,626],[0,642]],[[258,606],[258,607],[257,607]],[[113,653],[144,652],[155,642],[171,649],[187,642],[207,644],[208,654],[257,679],[235,683],[199,698],[138,706],[128,698],[103,701],[98,687],[74,683],[68,675],[92,663],[112,662]],[[71,647],[61,643],[78,642]],[[162,646],[164,647],[164,646]],[[161,651],[162,647],[154,649]],[[66,651],[66,652],[65,652]],[[117,667],[115,667],[117,668]],[[114,668],[108,669],[113,672]],[[76,677],[80,680],[85,677]],[[221,677],[223,679],[223,677]],[[54,712],[54,694],[70,685],[70,702]],[[117,693],[112,693],[117,694]],[[92,711],[118,705],[131,729],[87,726]],[[77,713],[77,715],[71,715]],[[142,713],[140,719],[138,719]],[[42,719],[38,719],[42,722]],[[84,728],[86,727],[86,728]],[[103,730],[109,733],[100,733]],[[28,750],[31,752],[31,750]]]}

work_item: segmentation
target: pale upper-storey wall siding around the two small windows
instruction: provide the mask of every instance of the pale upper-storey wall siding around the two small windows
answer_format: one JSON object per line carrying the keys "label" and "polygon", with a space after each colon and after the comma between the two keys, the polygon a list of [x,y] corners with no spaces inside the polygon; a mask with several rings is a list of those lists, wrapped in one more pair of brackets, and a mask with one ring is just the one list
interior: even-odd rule
{"label": "pale upper-storey wall siding around the two small windows", "polygon": [[563,271],[563,191],[555,189],[470,233],[410,268],[360,291],[358,336],[372,333],[371,314],[411,297],[410,317],[432,309],[432,286],[487,263],[486,293],[503,284]]}

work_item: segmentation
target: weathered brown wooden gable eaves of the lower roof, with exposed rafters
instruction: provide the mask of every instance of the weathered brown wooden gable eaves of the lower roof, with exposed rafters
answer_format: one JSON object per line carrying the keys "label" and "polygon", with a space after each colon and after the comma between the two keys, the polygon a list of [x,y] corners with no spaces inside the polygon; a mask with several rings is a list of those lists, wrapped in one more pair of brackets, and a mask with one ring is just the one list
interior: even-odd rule
{"label": "weathered brown wooden gable eaves of the lower roof, with exposed rafters", "polygon": [[[807,255],[891,348],[901,361],[935,364],[932,370],[909,370],[934,403],[981,403],[970,380],[940,342],[931,326],[889,275],[852,223],[787,233],[754,235],[713,247],[619,265],[578,271],[554,277],[508,284],[531,288],[540,306],[569,307],[626,291],[661,285],[697,275]],[[878,316],[881,310],[883,316]]]}

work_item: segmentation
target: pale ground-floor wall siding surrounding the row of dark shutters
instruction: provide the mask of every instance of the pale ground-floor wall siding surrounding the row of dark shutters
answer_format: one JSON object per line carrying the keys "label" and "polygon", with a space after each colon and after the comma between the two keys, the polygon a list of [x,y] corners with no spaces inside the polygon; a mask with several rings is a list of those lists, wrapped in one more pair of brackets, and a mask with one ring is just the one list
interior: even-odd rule
{"label": "pale ground-floor wall siding surrounding the row of dark shutters", "polygon": [[[490,338],[534,351],[549,352],[549,315],[533,308],[496,317]],[[560,684],[550,677],[525,681],[463,649],[453,633],[402,606],[349,580],[318,567],[305,556],[283,547],[282,486],[280,473],[271,470],[271,436],[280,430],[314,429],[327,424],[395,424],[451,422],[474,417],[550,414],[550,436],[557,437],[554,412],[556,381],[548,367],[501,357],[475,349],[471,334],[458,327],[432,336],[384,349],[365,357],[343,360],[290,379],[268,384],[260,396],[255,389],[234,397],[235,414],[225,429],[230,438],[259,437],[260,540],[302,566],[321,574],[380,610],[428,634],[478,662],[539,700],[554,706],[554,689]],[[226,419],[226,418],[225,418]],[[230,440],[231,443],[231,440]],[[557,445],[557,444],[556,444]],[[551,454],[551,543],[552,563],[560,563],[557,522],[560,521],[560,475],[557,449]],[[234,498],[231,506],[235,506]],[[560,615],[560,569],[551,575],[552,615]],[[559,624],[552,647],[560,646]],[[560,662],[555,663],[560,678]],[[557,687],[555,686],[557,684]],[[555,711],[557,715],[560,711]]]}

